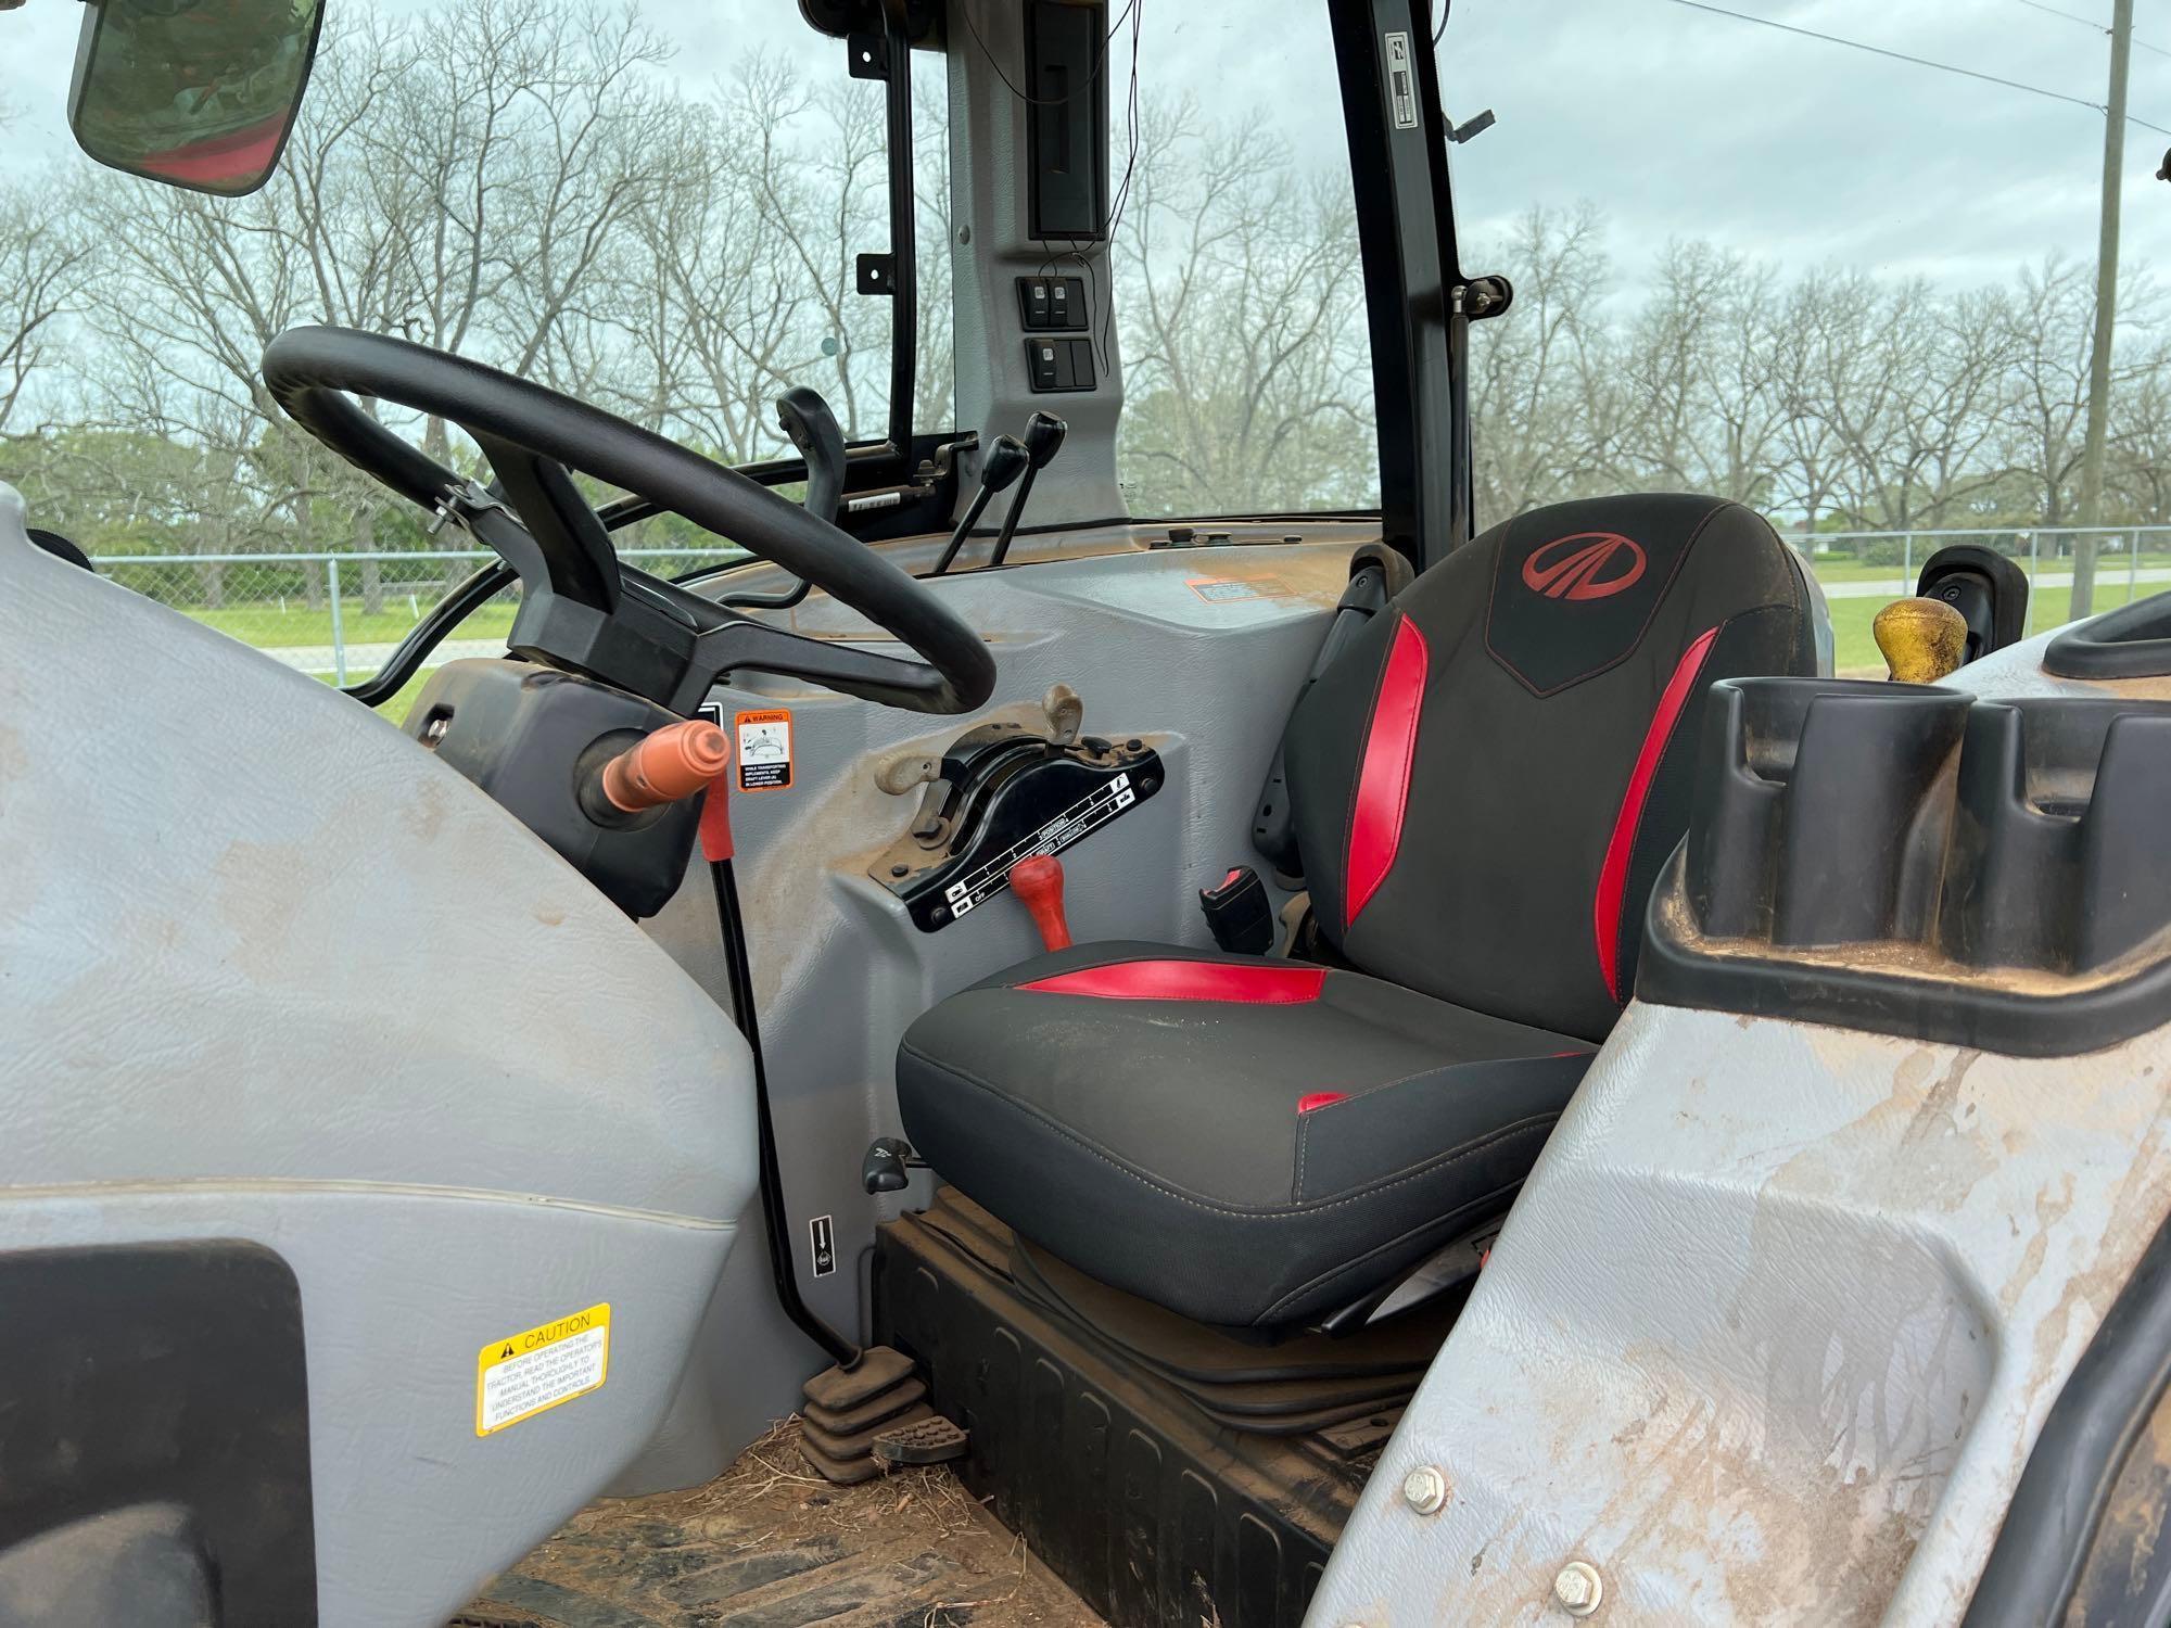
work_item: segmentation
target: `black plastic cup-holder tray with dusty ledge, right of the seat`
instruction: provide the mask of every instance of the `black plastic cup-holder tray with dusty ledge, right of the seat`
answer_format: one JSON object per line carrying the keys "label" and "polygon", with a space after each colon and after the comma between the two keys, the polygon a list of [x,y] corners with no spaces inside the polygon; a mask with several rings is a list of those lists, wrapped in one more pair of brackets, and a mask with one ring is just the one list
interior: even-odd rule
{"label": "black plastic cup-holder tray with dusty ledge, right of the seat", "polygon": [[1711,690],[1637,994],[2021,1057],[2171,1020],[2171,703]]}

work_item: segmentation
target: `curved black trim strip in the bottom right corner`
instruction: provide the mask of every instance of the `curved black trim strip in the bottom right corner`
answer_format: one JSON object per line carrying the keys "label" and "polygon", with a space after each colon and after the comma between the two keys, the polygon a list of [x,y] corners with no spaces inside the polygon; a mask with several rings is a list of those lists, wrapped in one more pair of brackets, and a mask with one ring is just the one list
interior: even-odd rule
{"label": "curved black trim strip in the bottom right corner", "polygon": [[[2043,1420],[1960,1628],[2058,1628],[2128,1454],[2171,1385],[2171,1222],[2156,1229],[2132,1279]],[[2147,1602],[2084,1628],[2156,1628]]]}

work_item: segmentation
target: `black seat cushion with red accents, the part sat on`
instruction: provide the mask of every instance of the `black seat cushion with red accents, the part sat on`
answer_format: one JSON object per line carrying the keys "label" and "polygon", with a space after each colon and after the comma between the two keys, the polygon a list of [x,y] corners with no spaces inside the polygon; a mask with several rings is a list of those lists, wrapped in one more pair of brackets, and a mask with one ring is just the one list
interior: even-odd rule
{"label": "black seat cushion with red accents, the part sat on", "polygon": [[1025,1237],[1201,1322],[1346,1307],[1507,1207],[1585,1040],[1303,962],[1081,944],[905,1033],[905,1135]]}

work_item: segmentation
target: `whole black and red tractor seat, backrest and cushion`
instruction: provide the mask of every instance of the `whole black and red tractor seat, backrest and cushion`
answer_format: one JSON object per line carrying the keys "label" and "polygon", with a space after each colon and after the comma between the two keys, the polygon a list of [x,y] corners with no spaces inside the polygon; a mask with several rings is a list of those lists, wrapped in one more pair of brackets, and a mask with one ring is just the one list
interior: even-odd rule
{"label": "whole black and red tractor seat, backrest and cushion", "polygon": [[1081,944],[905,1033],[927,1161],[1079,1270],[1216,1324],[1359,1302],[1507,1209],[1635,981],[1713,679],[1815,673],[1748,508],[1498,525],[1290,718],[1311,907],[1348,966]]}

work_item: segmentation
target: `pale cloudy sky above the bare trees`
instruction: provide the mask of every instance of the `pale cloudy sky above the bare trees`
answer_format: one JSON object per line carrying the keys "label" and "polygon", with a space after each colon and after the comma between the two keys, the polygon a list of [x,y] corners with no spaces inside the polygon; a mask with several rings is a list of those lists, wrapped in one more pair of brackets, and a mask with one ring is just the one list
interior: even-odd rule
{"label": "pale cloudy sky above the bare trees", "polygon": [[[1148,93],[1192,89],[1209,104],[1261,106],[1313,163],[1342,163],[1326,0],[1140,2]],[[2069,17],[2030,0],[1724,4],[2104,98],[2110,0],[2043,0]],[[805,28],[792,0],[643,0],[643,13],[675,43],[673,72],[690,82],[756,48],[823,72],[842,50]],[[15,111],[0,167],[87,163],[63,117],[80,15],[76,0],[0,13],[0,104]],[[2171,0],[2136,2],[2136,39],[2130,111],[2171,128]],[[2047,252],[2095,252],[2102,117],[2086,106],[1678,0],[1455,0],[1439,61],[1457,119],[1487,106],[1498,115],[1455,154],[1465,237],[1531,204],[1594,200],[1628,278],[1667,237],[1713,237],[1787,267],[1841,263],[1947,282],[2004,280]],[[925,72],[929,59],[918,63]],[[2128,128],[2128,267],[2171,267],[2171,187],[2151,178],[2164,145],[2171,135]]]}

